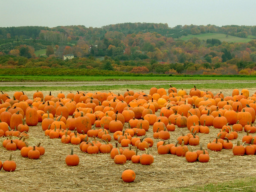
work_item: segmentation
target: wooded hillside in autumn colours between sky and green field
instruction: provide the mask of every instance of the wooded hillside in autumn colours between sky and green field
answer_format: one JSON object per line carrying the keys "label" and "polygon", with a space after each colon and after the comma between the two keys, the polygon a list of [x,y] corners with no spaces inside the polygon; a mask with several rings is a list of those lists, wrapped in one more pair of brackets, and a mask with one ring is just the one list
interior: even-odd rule
{"label": "wooded hillside in autumn colours between sky and green field", "polygon": [[[227,73],[236,74],[249,68],[247,72],[251,74],[256,71],[256,26],[170,28],[163,23],[119,23],[101,28],[82,25],[0,28],[0,57],[4,57],[0,67],[71,67],[62,60],[67,54],[74,55],[72,67],[87,69],[201,74],[206,70],[222,73],[221,67],[229,64]],[[47,60],[40,62],[41,56]],[[60,61],[46,64],[49,58]],[[112,67],[111,63],[97,63],[96,58],[111,60]],[[39,61],[35,64],[27,59]]]}

